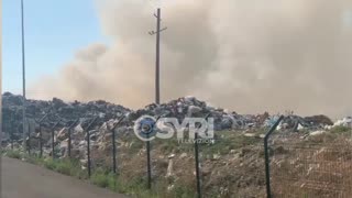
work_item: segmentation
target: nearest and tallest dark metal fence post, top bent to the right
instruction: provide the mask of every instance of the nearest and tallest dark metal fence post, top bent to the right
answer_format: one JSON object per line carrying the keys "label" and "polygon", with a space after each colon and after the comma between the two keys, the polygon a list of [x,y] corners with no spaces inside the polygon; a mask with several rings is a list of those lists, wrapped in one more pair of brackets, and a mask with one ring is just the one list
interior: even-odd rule
{"label": "nearest and tallest dark metal fence post, top bent to the right", "polygon": [[268,153],[268,138],[275,131],[279,122],[284,119],[284,116],[280,116],[278,120],[272,125],[268,132],[264,138],[264,155],[265,155],[265,182],[266,182],[266,196],[267,198],[272,198],[272,189],[271,189],[271,167],[270,167],[270,153]]}

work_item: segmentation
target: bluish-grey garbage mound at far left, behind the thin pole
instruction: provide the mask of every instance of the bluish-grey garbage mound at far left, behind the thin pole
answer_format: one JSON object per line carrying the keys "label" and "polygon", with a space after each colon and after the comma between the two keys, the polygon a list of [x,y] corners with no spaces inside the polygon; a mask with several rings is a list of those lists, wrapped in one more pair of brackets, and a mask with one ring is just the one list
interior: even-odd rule
{"label": "bluish-grey garbage mound at far left, behind the thin pole", "polygon": [[[2,132],[22,142],[23,141],[23,97],[6,92],[2,95]],[[37,135],[40,124],[43,131],[61,130],[78,120],[79,125],[87,127],[92,118],[98,117],[96,125],[111,119],[117,119],[130,112],[122,106],[106,102],[103,100],[90,102],[64,102],[54,98],[52,101],[26,100],[26,123],[24,132],[30,131],[32,136]],[[42,120],[43,119],[43,120]],[[42,120],[42,122],[41,122]],[[40,123],[41,122],[41,123]],[[53,129],[54,128],[54,129]],[[44,134],[45,135],[45,134]],[[9,141],[10,135],[4,135]]]}

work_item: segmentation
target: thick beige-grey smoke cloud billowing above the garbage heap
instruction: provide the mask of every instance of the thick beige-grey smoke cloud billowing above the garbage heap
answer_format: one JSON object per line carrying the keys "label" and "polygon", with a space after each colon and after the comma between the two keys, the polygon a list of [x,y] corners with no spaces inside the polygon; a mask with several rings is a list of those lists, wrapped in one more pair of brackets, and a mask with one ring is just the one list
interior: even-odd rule
{"label": "thick beige-grey smoke cloud billowing above the garbage heap", "polygon": [[[161,7],[168,28],[163,101],[191,95],[243,113],[352,113],[351,0],[165,0]],[[97,10],[113,43],[79,51],[59,74],[33,85],[41,95],[32,97],[132,108],[154,101],[151,1],[99,0]]]}

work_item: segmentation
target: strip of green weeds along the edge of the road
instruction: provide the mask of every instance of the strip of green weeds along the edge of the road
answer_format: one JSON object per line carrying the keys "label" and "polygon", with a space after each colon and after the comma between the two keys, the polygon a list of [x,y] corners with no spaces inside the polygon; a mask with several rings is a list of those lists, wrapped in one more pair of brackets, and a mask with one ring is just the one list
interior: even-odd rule
{"label": "strip of green weeds along the edge of the road", "polygon": [[[82,170],[79,162],[74,160],[53,160],[41,158],[34,155],[28,155],[19,150],[3,151],[2,155],[24,160],[28,163],[44,166],[45,168],[54,172],[73,176],[78,179],[88,179],[87,170]],[[110,189],[120,194],[130,195],[139,198],[168,198],[168,197],[194,197],[191,189],[186,186],[175,186],[173,190],[167,190],[165,180],[160,180],[158,184],[153,184],[153,188],[148,190],[146,188],[146,179],[144,177],[125,178],[123,176],[114,175],[108,169],[99,168],[94,170],[90,179],[94,185],[102,188]]]}

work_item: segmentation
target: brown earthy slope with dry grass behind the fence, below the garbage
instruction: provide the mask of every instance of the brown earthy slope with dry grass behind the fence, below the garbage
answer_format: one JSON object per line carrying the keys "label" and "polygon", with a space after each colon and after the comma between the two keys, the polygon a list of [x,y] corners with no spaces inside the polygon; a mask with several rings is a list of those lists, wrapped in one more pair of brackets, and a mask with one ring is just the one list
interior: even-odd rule
{"label": "brown earthy slope with dry grass behind the fence, below the garbage", "polygon": [[[201,187],[207,198],[266,197],[263,131],[218,132],[215,144],[201,144]],[[352,195],[352,141],[345,132],[305,136],[276,132],[271,143],[274,197],[349,198]],[[95,183],[111,188],[111,142],[91,147]],[[146,189],[145,142],[133,133],[118,139],[118,177],[114,190],[132,197],[191,198],[196,191],[194,144],[175,140],[152,142],[153,189]],[[174,154],[172,160],[168,158]],[[173,162],[172,175],[167,175]],[[100,173],[100,170],[103,170]]]}

